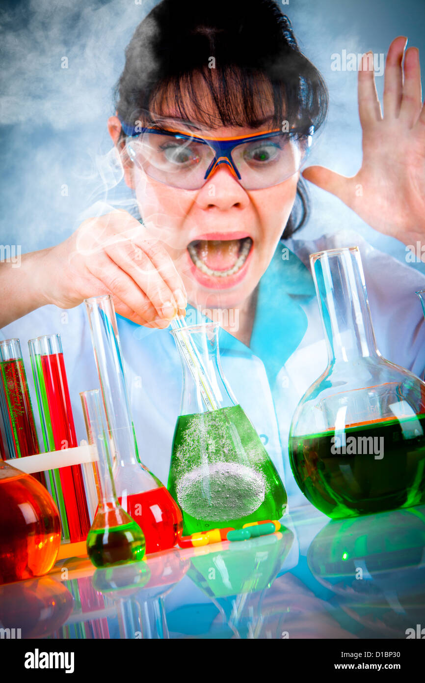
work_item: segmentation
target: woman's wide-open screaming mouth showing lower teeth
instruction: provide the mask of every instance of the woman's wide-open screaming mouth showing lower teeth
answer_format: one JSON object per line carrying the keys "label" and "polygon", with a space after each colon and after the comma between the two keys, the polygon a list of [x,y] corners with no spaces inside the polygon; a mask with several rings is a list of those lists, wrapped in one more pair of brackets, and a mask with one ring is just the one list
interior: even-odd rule
{"label": "woman's wide-open screaming mouth showing lower teeth", "polygon": [[246,262],[252,248],[252,239],[193,240],[188,252],[196,268],[209,277],[235,275]]}

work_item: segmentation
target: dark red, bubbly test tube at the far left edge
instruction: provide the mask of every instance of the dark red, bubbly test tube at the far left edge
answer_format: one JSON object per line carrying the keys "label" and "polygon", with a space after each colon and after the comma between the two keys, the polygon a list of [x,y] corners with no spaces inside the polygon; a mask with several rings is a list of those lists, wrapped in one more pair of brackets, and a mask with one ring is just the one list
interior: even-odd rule
{"label": "dark red, bubbly test tube at the far left edge", "polygon": [[[38,454],[40,445],[19,339],[5,339],[0,342],[0,370],[0,408],[10,456],[25,458]],[[44,473],[34,473],[33,477],[46,485]]]}

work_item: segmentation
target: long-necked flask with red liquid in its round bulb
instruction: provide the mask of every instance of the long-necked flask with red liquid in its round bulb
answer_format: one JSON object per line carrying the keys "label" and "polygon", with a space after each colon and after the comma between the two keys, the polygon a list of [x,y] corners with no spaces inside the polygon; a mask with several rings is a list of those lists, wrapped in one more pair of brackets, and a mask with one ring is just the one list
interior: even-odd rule
{"label": "long-necked flask with red liquid in its round bulb", "polygon": [[112,298],[95,296],[85,303],[115,451],[113,473],[119,503],[145,534],[147,554],[172,548],[181,533],[181,512],[138,456]]}

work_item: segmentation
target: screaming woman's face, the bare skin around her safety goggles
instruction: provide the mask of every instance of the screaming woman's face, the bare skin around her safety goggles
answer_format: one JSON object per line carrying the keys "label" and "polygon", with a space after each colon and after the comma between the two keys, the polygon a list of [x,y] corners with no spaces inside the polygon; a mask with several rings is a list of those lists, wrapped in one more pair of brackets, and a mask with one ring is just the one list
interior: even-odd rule
{"label": "screaming woman's face, the bare skin around her safety goggles", "polygon": [[[175,118],[173,111],[166,115]],[[112,117],[113,139],[120,128]],[[208,134],[233,137],[261,130],[269,130],[267,121],[254,130],[214,127]],[[244,305],[272,260],[293,208],[299,173],[273,187],[248,191],[221,164],[201,189],[186,191],[149,178],[136,165],[125,172],[143,223],[171,255],[189,303],[201,309]]]}

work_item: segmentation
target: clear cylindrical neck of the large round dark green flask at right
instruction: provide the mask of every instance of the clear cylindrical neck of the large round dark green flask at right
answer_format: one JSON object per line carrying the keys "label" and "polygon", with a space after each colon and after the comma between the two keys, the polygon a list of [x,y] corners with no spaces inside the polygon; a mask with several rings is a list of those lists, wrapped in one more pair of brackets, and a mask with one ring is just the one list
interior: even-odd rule
{"label": "clear cylindrical neck of the large round dark green flask at right", "polygon": [[358,247],[310,255],[329,363],[377,357]]}

